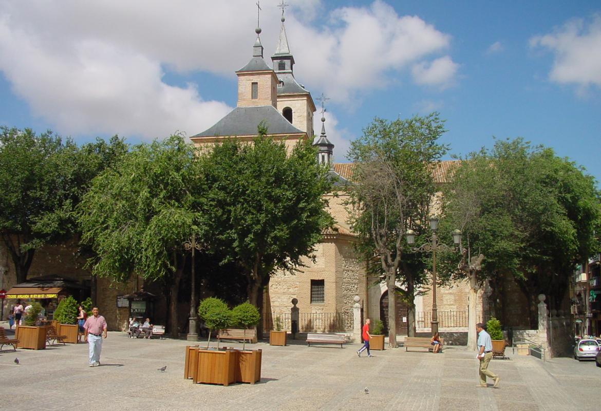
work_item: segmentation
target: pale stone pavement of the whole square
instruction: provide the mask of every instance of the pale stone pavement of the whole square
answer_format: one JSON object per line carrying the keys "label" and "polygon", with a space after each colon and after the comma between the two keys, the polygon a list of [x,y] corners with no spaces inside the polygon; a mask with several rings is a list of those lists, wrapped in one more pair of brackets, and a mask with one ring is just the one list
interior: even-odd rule
{"label": "pale stone pavement of the whole square", "polygon": [[[261,382],[228,387],[183,379],[186,341],[129,339],[109,332],[102,365],[87,367],[87,344],[0,353],[5,410],[599,410],[601,368],[570,358],[550,362],[512,355],[494,360],[499,388],[477,388],[475,353],[372,352],[359,344],[263,349]],[[213,345],[213,344],[212,344]],[[227,346],[242,347],[231,342]],[[14,364],[19,357],[21,364]],[[157,368],[167,366],[161,373]],[[16,383],[18,382],[18,383]],[[365,394],[364,388],[370,393]]]}

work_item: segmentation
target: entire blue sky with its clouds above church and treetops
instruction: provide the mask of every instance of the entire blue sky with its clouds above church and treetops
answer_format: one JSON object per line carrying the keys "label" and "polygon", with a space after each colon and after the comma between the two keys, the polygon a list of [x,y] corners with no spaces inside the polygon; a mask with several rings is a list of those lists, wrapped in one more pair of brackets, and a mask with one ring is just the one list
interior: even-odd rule
{"label": "entire blue sky with its clouds above church and treetops", "polygon": [[[261,1],[268,62],[278,2]],[[600,2],[287,2],[294,75],[331,98],[335,160],[376,116],[436,110],[450,153],[521,136],[601,180]],[[79,142],[202,132],[236,105],[254,4],[0,0],[0,124]]]}

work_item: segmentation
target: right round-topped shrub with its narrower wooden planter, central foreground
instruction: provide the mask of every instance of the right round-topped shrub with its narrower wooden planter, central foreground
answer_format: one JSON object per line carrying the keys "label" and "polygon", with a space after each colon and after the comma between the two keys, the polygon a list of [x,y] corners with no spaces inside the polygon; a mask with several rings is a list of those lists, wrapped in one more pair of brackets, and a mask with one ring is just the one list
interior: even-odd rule
{"label": "right round-topped shrub with its narrower wooden planter, central foreground", "polygon": [[[237,305],[232,310],[234,324],[239,324],[246,329],[255,327],[261,320],[261,315],[257,307],[248,301]],[[261,360],[263,356],[262,350],[245,350],[246,339],[243,340],[242,350],[238,351],[236,361],[236,382],[245,382],[254,384],[261,380]]]}

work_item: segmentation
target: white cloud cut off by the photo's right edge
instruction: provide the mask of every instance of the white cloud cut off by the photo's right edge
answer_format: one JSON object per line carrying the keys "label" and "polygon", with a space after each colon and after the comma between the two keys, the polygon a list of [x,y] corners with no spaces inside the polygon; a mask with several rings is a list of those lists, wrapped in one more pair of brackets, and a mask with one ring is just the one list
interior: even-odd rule
{"label": "white cloud cut off by the photo's right edge", "polygon": [[552,33],[532,37],[530,45],[554,53],[551,81],[581,88],[601,87],[601,16],[588,23],[570,20]]}

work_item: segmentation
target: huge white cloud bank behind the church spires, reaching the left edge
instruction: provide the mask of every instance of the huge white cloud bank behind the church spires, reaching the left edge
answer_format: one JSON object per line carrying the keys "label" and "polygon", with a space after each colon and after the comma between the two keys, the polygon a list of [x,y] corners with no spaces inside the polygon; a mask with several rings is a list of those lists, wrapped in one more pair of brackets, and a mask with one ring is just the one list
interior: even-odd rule
{"label": "huge white cloud bank behind the church spires, reaching the left edge", "polygon": [[[275,5],[261,5],[268,62],[279,34]],[[148,139],[175,130],[192,135],[228,112],[225,103],[203,99],[206,84],[176,87],[163,77],[231,78],[251,57],[257,23],[248,0],[0,0],[0,10],[0,70],[35,115],[59,133]],[[286,14],[296,78],[314,94],[345,102],[390,84],[415,62],[423,64],[419,84],[446,85],[456,73],[450,57],[436,59],[450,37],[419,17],[398,16],[379,0],[324,10],[308,0]]]}

